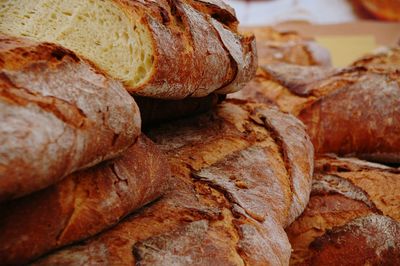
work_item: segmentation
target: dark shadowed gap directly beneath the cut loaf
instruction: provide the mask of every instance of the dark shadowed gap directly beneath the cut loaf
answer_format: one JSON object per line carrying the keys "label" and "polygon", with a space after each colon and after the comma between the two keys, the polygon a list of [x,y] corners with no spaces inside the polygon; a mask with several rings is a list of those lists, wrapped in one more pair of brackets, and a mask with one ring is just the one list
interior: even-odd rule
{"label": "dark shadowed gap directly beneath the cut loaf", "polygon": [[142,126],[148,127],[160,122],[205,113],[225,99],[225,95],[211,93],[200,98],[162,100],[149,97],[135,97],[139,106]]}

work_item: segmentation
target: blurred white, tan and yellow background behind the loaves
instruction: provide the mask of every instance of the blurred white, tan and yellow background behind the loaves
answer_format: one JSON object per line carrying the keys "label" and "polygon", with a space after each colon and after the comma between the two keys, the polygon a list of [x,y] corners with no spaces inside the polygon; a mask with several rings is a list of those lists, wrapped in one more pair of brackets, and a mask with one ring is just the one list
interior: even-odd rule
{"label": "blurred white, tan and yellow background behind the loaves", "polygon": [[260,47],[263,28],[297,32],[327,48],[335,66],[400,43],[400,0],[226,1],[235,8],[240,26],[258,33]]}

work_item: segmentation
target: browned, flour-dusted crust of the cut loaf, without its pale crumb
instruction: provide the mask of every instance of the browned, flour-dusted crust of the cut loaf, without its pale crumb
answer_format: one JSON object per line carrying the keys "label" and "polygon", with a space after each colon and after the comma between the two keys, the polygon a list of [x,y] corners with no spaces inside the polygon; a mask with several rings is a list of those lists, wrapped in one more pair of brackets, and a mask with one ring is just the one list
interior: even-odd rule
{"label": "browned, flour-dusted crust of the cut loaf, without its pale crumb", "polygon": [[[257,67],[254,36],[237,31],[223,1],[121,1],[141,13],[153,38],[154,70],[131,92],[154,98],[201,97],[241,89]],[[174,49],[171,49],[174,47]]]}

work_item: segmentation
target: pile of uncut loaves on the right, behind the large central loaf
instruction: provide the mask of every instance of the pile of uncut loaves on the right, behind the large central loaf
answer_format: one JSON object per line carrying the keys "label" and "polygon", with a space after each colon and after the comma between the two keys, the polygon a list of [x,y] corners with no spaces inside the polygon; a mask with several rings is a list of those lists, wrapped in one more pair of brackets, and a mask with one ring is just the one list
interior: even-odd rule
{"label": "pile of uncut loaves on the right, behind the large central loaf", "polygon": [[314,144],[310,201],[286,228],[290,264],[398,265],[400,49],[380,49],[342,69],[298,58],[269,60],[229,96],[297,116]]}

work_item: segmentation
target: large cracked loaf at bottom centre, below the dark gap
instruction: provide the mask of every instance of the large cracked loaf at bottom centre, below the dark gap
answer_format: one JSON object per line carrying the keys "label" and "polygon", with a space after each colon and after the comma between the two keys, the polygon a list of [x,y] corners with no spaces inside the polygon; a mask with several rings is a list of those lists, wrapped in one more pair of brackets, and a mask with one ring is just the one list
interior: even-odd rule
{"label": "large cracked loaf at bottom centre, below the dark gap", "polygon": [[294,117],[226,101],[152,128],[174,189],[86,242],[36,265],[285,265],[283,230],[308,201],[313,151]]}

